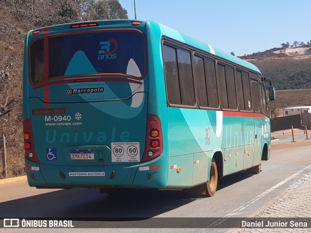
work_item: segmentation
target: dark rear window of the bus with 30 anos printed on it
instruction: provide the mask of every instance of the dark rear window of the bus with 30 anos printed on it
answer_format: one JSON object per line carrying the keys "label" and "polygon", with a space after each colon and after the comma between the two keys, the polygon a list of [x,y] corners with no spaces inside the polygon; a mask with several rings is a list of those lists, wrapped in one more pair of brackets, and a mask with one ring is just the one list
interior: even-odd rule
{"label": "dark rear window of the bus with 30 anos printed on it", "polygon": [[[136,31],[101,31],[45,37],[36,40],[30,48],[31,80],[38,83],[46,78],[66,78],[64,76],[72,75],[126,75],[131,59],[137,67],[130,69],[139,70],[135,75],[131,73],[131,76],[143,78],[145,39],[142,33]],[[133,62],[130,64],[133,66]]]}

